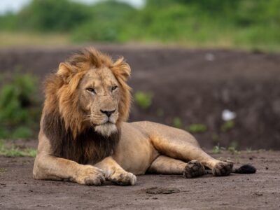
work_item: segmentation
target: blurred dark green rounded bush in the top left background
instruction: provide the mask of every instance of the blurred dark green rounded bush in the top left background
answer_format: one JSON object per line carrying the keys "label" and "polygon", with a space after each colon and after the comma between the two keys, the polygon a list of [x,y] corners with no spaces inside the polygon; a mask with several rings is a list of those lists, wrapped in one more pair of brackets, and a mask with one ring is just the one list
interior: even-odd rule
{"label": "blurred dark green rounded bush in the top left background", "polygon": [[[6,27],[25,31],[71,31],[90,17],[90,10],[82,3],[67,0],[33,0],[10,17]],[[1,19],[0,19],[1,22]]]}

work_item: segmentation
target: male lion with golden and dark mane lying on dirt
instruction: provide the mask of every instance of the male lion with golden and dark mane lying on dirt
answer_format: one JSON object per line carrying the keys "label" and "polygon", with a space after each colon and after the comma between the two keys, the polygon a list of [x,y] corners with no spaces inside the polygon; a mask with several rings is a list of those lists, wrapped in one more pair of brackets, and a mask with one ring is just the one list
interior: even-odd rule
{"label": "male lion with golden and dark mane lying on dirt", "polygon": [[123,58],[113,62],[93,48],[59,64],[45,81],[34,179],[134,185],[134,174],[146,172],[186,178],[202,176],[204,167],[214,176],[235,172],[232,162],[211,158],[188,132],[158,123],[125,123],[129,76]]}

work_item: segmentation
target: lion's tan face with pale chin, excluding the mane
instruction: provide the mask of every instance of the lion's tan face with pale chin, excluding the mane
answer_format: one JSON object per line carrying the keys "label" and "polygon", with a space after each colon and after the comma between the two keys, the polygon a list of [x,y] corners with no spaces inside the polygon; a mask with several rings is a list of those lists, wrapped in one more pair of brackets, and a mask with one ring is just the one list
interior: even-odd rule
{"label": "lion's tan face with pale chin, excluding the mane", "polygon": [[85,114],[85,122],[104,136],[117,131],[120,88],[111,69],[90,69],[78,85],[78,106]]}

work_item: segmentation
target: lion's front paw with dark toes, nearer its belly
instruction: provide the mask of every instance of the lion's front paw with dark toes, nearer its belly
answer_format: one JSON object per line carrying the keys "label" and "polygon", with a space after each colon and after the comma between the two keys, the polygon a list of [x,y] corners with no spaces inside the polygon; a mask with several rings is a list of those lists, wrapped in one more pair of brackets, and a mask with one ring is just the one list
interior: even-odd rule
{"label": "lion's front paw with dark toes, nearer its belly", "polygon": [[134,186],[137,178],[134,174],[125,171],[116,171],[112,176],[110,181],[116,183],[120,186]]}

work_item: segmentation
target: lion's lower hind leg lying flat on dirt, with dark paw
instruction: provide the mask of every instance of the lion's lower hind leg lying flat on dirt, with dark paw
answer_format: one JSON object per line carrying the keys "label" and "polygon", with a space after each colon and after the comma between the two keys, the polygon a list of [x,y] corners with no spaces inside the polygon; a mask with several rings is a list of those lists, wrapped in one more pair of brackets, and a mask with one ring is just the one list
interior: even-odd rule
{"label": "lion's lower hind leg lying flat on dirt, with dark paw", "polygon": [[156,158],[147,172],[152,174],[183,174],[186,178],[194,178],[205,174],[204,166],[197,160],[187,163],[165,155]]}

